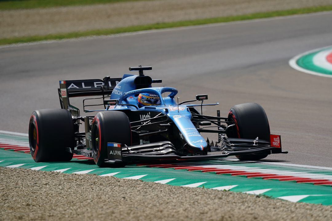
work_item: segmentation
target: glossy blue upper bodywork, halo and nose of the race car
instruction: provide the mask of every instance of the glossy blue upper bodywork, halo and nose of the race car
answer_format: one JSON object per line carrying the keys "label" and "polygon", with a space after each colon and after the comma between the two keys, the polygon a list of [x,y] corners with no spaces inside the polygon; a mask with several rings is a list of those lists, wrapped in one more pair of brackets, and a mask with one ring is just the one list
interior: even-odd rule
{"label": "glossy blue upper bodywork, halo and nose of the race car", "polygon": [[[198,148],[198,150],[204,150],[207,148],[207,142],[201,136],[200,132],[195,128],[192,123],[192,114],[188,110],[186,105],[177,105],[174,97],[178,93],[178,90],[171,87],[151,87],[149,85],[147,88],[137,89],[134,83],[135,78],[138,75],[128,75],[125,74],[122,80],[114,88],[110,99],[116,99],[119,104],[131,104],[137,106],[109,106],[106,110],[99,111],[151,111],[166,114],[169,119],[171,119],[175,125],[178,127],[180,133],[187,144],[191,147]],[[137,96],[140,93],[151,93],[159,95],[160,105],[158,106],[145,106],[138,108]],[[168,96],[163,97],[164,93],[170,93]]]}

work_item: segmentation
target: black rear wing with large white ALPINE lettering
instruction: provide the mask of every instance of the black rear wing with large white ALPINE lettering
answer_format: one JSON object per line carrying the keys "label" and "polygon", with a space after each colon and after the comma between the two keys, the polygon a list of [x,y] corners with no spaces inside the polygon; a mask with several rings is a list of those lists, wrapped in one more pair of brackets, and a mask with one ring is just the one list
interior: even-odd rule
{"label": "black rear wing with large white ALPINE lettering", "polygon": [[109,76],[106,76],[103,80],[88,79],[60,81],[58,94],[61,108],[69,110],[73,116],[79,116],[79,109],[70,105],[69,98],[99,95],[103,97],[110,96],[121,79],[122,78],[110,78]]}

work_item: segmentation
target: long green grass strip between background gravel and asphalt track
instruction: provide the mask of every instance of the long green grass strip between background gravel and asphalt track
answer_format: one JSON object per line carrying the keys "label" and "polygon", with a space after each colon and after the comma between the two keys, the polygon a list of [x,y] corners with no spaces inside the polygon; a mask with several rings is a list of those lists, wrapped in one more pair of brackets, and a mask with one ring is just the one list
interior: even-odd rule
{"label": "long green grass strip between background gravel and asphalt track", "polygon": [[112,35],[112,34],[137,32],[137,31],[152,30],[152,29],[175,28],[175,27],[184,27],[184,26],[192,26],[192,25],[204,25],[204,24],[213,24],[213,23],[221,23],[221,22],[233,22],[233,21],[242,21],[242,20],[251,20],[251,19],[271,18],[271,17],[277,17],[277,16],[298,15],[298,14],[321,12],[321,11],[331,11],[331,10],[332,10],[332,5],[311,7],[311,8],[302,8],[302,9],[291,9],[291,10],[285,10],[285,11],[255,13],[255,14],[249,14],[249,15],[218,17],[218,18],[210,18],[210,19],[198,19],[198,20],[191,20],[191,21],[157,23],[157,24],[151,24],[151,25],[130,26],[130,27],[124,27],[124,28],[91,30],[91,31],[85,31],[85,32],[71,32],[71,33],[45,35],[45,36],[2,38],[2,39],[0,39],[0,45],[14,44],[14,43],[26,43],[26,42],[42,41],[42,40],[61,40],[61,39],[66,39],[66,38]]}

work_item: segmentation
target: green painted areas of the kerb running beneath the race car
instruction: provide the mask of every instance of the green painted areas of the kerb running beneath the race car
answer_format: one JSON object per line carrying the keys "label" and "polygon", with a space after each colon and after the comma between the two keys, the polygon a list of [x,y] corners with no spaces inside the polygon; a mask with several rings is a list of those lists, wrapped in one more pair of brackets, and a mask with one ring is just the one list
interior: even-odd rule
{"label": "green painted areas of the kerb running beneath the race car", "polygon": [[[1,135],[0,141],[3,139],[9,140],[9,135]],[[24,142],[27,138],[12,136],[13,140]],[[260,168],[274,168],[276,170],[283,169],[284,171],[301,171],[308,169],[282,167],[275,165],[265,165],[257,163],[239,163],[238,161],[218,161],[211,160],[201,162],[205,165],[211,166],[215,164],[222,165],[237,165],[246,167],[260,167]],[[146,182],[165,181],[169,185],[183,186],[192,185],[194,187],[215,188],[232,186],[230,191],[247,192],[253,190],[264,190],[263,194],[272,198],[284,196],[299,196],[308,195],[298,202],[315,203],[323,205],[332,205],[332,188],[330,186],[319,186],[312,184],[299,184],[294,182],[285,182],[277,180],[263,180],[254,178],[245,178],[240,176],[216,175],[212,173],[199,173],[186,170],[174,170],[169,168],[149,168],[144,166],[130,165],[124,168],[99,168],[93,161],[71,160],[70,162],[47,162],[36,163],[30,154],[0,150],[0,167],[7,167],[13,165],[20,165],[18,168],[36,169],[42,167],[41,171],[64,170],[62,173],[72,174],[83,172],[87,174],[114,176],[117,178],[133,178],[139,176],[140,180]],[[43,167],[45,166],[45,167]],[[311,170],[311,173],[322,173],[318,170]],[[326,171],[325,171],[326,172]],[[328,172],[329,173],[329,172]],[[111,175],[110,175],[111,174]],[[83,175],[82,175],[83,176]],[[162,182],[159,182],[162,183]]]}

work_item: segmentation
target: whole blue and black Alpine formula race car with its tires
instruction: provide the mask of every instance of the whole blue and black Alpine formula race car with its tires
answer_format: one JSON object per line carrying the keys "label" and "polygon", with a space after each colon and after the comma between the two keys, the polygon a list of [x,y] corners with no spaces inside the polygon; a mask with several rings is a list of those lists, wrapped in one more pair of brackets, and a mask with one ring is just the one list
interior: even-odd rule
{"label": "whole blue and black Alpine formula race car with its tires", "polygon": [[[131,67],[139,75],[103,80],[60,81],[61,109],[34,111],[29,123],[33,159],[69,161],[73,154],[92,157],[98,166],[124,166],[133,162],[203,160],[236,156],[239,160],[260,160],[281,149],[280,135],[270,134],[264,109],[256,103],[232,107],[227,117],[203,115],[207,95],[179,103],[178,90],[152,87],[143,74],[152,67]],[[71,97],[101,96],[83,100],[84,112],[69,103]],[[102,104],[87,104],[102,99]],[[199,101],[200,104],[190,104]],[[103,106],[102,110],[86,110]],[[200,109],[199,112],[196,108]],[[84,122],[85,132],[79,125]],[[212,126],[211,126],[212,125]],[[201,133],[216,133],[215,143]]]}

